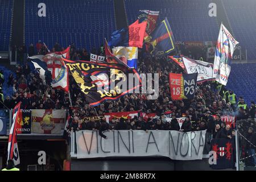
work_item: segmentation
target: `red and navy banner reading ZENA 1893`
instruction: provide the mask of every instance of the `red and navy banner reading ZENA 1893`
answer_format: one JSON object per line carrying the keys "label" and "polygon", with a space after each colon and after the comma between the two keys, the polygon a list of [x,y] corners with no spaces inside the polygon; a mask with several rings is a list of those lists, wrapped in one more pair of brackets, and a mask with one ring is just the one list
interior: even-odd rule
{"label": "red and navy banner reading ZENA 1893", "polygon": [[196,92],[197,73],[170,73],[169,84],[172,100],[192,100]]}

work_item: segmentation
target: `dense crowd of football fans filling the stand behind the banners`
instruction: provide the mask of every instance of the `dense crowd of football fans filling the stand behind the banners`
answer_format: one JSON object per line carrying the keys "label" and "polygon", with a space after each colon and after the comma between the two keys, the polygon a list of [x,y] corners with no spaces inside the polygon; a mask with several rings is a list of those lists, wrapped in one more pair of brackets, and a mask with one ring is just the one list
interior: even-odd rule
{"label": "dense crowd of football fans filling the stand behind the banners", "polygon": [[[58,43],[51,51],[61,51]],[[35,51],[36,50],[36,51]],[[102,137],[104,130],[177,130],[177,131],[198,131],[207,130],[208,135],[213,138],[234,137],[233,126],[225,125],[220,117],[224,114],[236,115],[237,120],[243,119],[249,123],[245,135],[250,135],[251,142],[256,143],[255,128],[255,104],[252,101],[247,106],[242,97],[238,98],[231,90],[218,89],[216,82],[204,82],[197,84],[195,98],[193,100],[173,101],[168,84],[168,73],[182,73],[182,69],[167,57],[152,57],[143,49],[138,53],[138,73],[159,73],[159,97],[157,100],[148,99],[147,94],[129,94],[116,101],[105,101],[100,106],[92,107],[86,101],[83,93],[77,87],[73,77],[69,77],[70,95],[60,89],[52,89],[49,85],[42,84],[38,74],[33,73],[24,58],[24,53],[29,56],[46,54],[48,48],[38,42],[36,49],[31,44],[19,48],[19,60],[23,65],[16,69],[15,76],[7,78],[7,84],[13,88],[13,96],[7,96],[1,107],[13,108],[19,101],[22,101],[22,109],[67,109],[71,115],[68,130],[99,130]],[[104,47],[98,50],[93,48],[92,53],[104,56]],[[179,51],[180,52],[180,51]],[[193,57],[199,59],[199,57]],[[90,56],[86,49],[76,49],[71,44],[72,60],[89,60]],[[3,82],[3,81],[2,81]],[[217,90],[219,92],[217,92]],[[233,101],[229,99],[233,98]],[[236,100],[236,101],[234,101]],[[144,113],[156,113],[158,118],[148,118],[144,121],[142,117],[133,119],[112,119],[107,123],[104,119],[105,113],[122,111],[141,111]],[[172,111],[171,122],[166,121],[164,112]],[[216,115],[216,119],[212,115]],[[179,126],[176,118],[185,116],[183,125]],[[209,137],[207,137],[208,139]],[[210,138],[208,139],[208,141]],[[250,146],[251,147],[251,146]],[[256,148],[254,148],[256,149]],[[256,164],[256,159],[255,159]]]}

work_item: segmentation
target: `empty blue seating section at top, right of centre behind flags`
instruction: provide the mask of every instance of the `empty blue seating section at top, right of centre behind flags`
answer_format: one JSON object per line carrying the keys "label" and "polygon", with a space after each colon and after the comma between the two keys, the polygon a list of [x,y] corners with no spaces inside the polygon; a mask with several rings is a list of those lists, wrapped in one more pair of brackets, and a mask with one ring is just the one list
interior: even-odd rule
{"label": "empty blue seating section at top, right of centre behind flags", "polygon": [[[160,11],[159,19],[168,18],[176,41],[208,41],[218,37],[216,17],[208,15],[210,1],[125,0],[128,24],[137,19],[139,10]],[[182,6],[180,6],[182,4]]]}

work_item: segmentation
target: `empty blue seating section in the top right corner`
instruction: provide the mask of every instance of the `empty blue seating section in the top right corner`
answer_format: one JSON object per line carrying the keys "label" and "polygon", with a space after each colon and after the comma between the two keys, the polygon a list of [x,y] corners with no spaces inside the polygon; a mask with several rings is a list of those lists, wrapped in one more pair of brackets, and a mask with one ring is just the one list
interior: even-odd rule
{"label": "empty blue seating section in the top right corner", "polygon": [[255,29],[256,29],[256,1],[249,0],[244,3],[240,0],[222,1],[232,26],[233,36],[240,42],[242,48],[247,49],[248,60],[255,60]]}

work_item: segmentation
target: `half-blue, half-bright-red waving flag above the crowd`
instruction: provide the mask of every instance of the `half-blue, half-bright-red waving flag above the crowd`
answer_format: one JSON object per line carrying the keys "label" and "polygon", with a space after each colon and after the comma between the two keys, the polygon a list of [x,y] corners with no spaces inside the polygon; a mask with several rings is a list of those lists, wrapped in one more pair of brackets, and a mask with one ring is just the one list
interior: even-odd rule
{"label": "half-blue, half-bright-red waving flag above the crowd", "polygon": [[139,47],[142,48],[147,22],[139,23],[139,20],[131,24],[128,28],[114,31],[111,35],[110,47]]}

